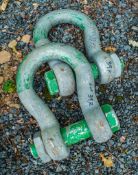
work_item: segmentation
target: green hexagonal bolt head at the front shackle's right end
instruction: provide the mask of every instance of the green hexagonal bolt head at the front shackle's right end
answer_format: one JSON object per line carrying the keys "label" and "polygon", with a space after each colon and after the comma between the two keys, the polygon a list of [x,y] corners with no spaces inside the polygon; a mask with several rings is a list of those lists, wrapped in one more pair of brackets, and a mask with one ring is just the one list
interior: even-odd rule
{"label": "green hexagonal bolt head at the front shackle's right end", "polygon": [[114,133],[118,131],[120,129],[120,123],[112,106],[109,104],[105,104],[102,106],[102,110],[106,116],[106,119],[109,123],[109,126],[111,127],[112,132]]}

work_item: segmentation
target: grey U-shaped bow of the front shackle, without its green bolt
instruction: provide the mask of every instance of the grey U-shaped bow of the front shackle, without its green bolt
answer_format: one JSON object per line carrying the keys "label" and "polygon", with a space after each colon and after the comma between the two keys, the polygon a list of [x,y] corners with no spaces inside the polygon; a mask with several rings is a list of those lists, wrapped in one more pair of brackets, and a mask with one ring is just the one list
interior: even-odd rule
{"label": "grey U-shaped bow of the front shackle, without its green bolt", "polygon": [[[63,44],[51,43],[41,46],[34,49],[19,66],[17,92],[25,108],[35,117],[40,126],[42,140],[37,140],[37,142],[42,147],[43,151],[41,150],[39,153],[41,156],[45,155],[43,157],[45,162],[51,159],[61,160],[69,154],[69,149],[64,143],[56,117],[33,89],[36,70],[43,63],[53,61],[55,58],[71,66],[75,72],[78,99],[94,140],[102,143],[112,136],[112,127],[109,126],[96,98],[94,77],[85,56],[75,48]],[[42,154],[44,152],[45,154]]]}

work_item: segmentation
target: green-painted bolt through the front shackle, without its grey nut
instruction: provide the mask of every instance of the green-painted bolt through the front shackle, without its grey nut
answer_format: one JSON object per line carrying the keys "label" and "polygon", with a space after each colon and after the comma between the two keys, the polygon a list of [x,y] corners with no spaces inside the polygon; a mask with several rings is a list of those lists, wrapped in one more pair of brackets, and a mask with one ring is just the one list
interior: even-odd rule
{"label": "green-painted bolt through the front shackle, without its grey nut", "polygon": [[[115,115],[112,106],[105,104],[101,106],[106,119],[111,127],[112,132],[116,132],[120,129],[120,124],[118,122],[117,116]],[[65,128],[60,129],[62,138],[67,146],[78,143],[82,140],[92,137],[92,134],[88,128],[88,125],[85,120],[80,120],[76,123],[73,123]],[[34,145],[30,145],[31,153],[34,158],[36,158],[36,150],[34,151]]]}

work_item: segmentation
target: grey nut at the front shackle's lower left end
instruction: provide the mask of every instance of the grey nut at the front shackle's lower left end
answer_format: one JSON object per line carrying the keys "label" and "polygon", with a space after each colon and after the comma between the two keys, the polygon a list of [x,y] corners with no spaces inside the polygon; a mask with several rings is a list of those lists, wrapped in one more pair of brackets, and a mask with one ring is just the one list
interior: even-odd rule
{"label": "grey nut at the front shackle's lower left end", "polygon": [[38,156],[40,157],[40,159],[42,160],[42,162],[44,162],[44,163],[49,162],[51,160],[51,158],[45,150],[40,132],[35,133],[33,141],[34,141],[34,145],[36,148],[36,152],[37,152]]}

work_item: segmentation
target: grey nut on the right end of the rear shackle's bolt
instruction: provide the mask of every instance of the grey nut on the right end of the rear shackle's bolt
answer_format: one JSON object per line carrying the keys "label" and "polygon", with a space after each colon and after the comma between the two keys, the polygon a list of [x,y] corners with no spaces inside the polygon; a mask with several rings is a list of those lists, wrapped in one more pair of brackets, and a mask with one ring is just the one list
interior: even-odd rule
{"label": "grey nut on the right end of the rear shackle's bolt", "polygon": [[115,78],[118,78],[122,73],[122,63],[115,53],[111,53],[110,56],[115,66]]}

